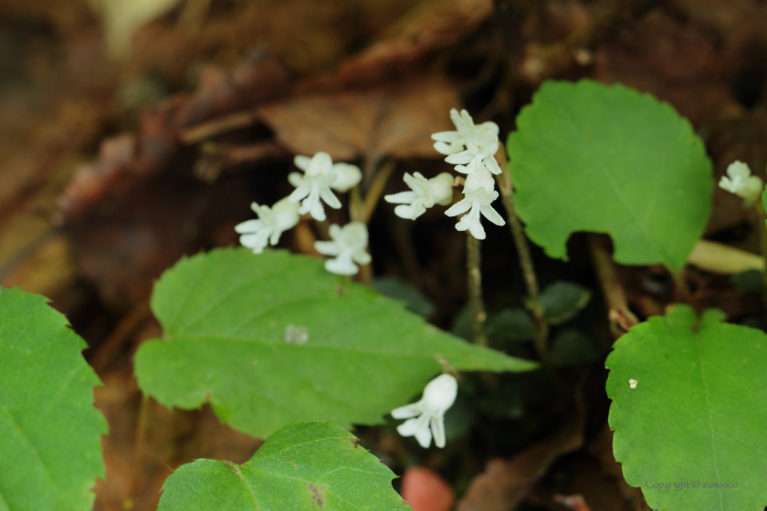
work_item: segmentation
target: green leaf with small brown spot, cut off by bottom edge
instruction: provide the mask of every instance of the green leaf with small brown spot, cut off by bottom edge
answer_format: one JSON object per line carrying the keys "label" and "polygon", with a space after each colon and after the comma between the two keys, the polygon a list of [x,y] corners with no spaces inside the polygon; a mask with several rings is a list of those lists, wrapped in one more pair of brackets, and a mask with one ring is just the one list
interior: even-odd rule
{"label": "green leaf with small brown spot, cut off by bottom edge", "polygon": [[198,460],[163,485],[158,511],[407,511],[395,475],[339,427],[302,422],[280,429],[245,464]]}

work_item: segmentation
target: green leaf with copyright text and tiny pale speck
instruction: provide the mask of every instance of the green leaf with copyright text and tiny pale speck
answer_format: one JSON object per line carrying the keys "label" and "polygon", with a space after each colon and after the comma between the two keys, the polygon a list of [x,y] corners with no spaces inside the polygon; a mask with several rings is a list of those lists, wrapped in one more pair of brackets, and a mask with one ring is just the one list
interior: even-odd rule
{"label": "green leaf with copyright text and tiny pale speck", "polygon": [[607,358],[615,459],[653,509],[767,506],[767,335],[723,319],[676,306]]}

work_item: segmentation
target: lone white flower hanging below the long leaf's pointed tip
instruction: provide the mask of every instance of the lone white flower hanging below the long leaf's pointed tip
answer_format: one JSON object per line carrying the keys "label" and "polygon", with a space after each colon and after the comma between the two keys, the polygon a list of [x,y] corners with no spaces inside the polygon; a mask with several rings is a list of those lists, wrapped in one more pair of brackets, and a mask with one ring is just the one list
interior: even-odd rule
{"label": "lone white flower hanging below the long leaf's pointed tip", "polygon": [[403,436],[415,436],[424,449],[431,444],[445,447],[445,412],[453,406],[458,392],[458,382],[449,374],[440,374],[429,381],[421,401],[392,411],[394,419],[407,419],[397,431]]}

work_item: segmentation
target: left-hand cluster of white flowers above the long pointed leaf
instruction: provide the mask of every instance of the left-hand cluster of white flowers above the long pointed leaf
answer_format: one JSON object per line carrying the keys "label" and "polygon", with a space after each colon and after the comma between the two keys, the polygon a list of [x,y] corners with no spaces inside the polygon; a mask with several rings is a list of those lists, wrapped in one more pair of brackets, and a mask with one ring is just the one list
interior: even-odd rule
{"label": "left-hand cluster of white flowers above the long pointed leaf", "polygon": [[[326,203],[331,208],[339,209],[341,201],[333,190],[348,192],[362,181],[362,171],[349,163],[333,163],[327,152],[318,152],[309,156],[296,156],[293,160],[304,173],[291,172],[290,184],[296,187],[293,193],[269,206],[252,203],[250,207],[258,215],[257,220],[247,220],[237,224],[235,230],[240,234],[240,244],[260,254],[268,245],[277,245],[279,236],[299,224],[300,214],[310,214],[320,222],[326,219]],[[332,241],[318,241],[314,248],[322,255],[334,256],[325,261],[325,269],[339,275],[355,275],[360,271],[357,265],[367,265],[371,261],[367,253],[368,232],[362,222],[352,222],[343,227],[332,224]]]}

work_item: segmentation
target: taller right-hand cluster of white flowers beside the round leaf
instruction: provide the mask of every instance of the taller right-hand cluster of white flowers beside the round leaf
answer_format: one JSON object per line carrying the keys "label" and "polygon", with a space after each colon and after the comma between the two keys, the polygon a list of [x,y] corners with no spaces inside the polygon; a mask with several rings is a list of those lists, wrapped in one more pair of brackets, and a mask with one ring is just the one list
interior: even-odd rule
{"label": "taller right-hand cluster of white flowers beside the round leaf", "polygon": [[[483,122],[475,125],[468,111],[450,110],[450,119],[456,125],[456,131],[442,131],[432,135],[434,148],[447,156],[446,162],[456,165],[456,171],[466,174],[463,200],[453,204],[445,214],[457,216],[465,214],[456,224],[458,231],[467,231],[477,239],[485,239],[481,216],[496,225],[506,222],[496,212],[492,203],[498,199],[493,175],[501,172],[495,154],[499,150],[498,125],[495,122]],[[403,204],[394,208],[394,214],[405,219],[415,220],[426,213],[426,209],[435,204],[447,205],[453,196],[453,177],[443,172],[432,179],[426,179],[415,172],[405,173],[405,183],[410,192],[386,195],[388,203]]]}

